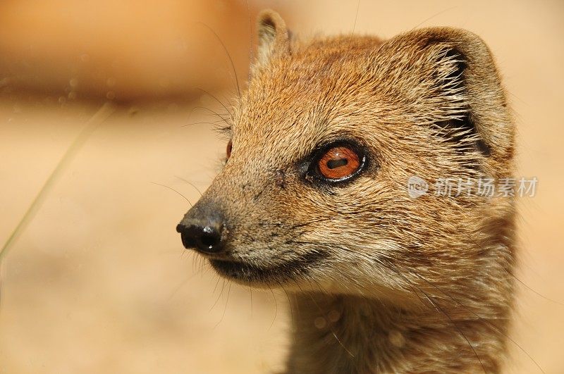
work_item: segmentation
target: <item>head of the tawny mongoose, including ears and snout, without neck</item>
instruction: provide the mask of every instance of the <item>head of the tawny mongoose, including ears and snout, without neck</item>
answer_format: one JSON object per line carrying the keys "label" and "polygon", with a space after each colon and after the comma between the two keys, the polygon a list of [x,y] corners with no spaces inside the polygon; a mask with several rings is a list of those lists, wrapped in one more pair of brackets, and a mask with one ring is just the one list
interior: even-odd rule
{"label": "head of the tawny mongoose, including ears and snout, without neck", "polygon": [[[512,256],[513,202],[475,189],[510,176],[513,125],[484,42],[452,28],[300,42],[271,11],[258,30],[225,166],[177,227],[185,247],[256,287],[398,302],[427,280],[486,287]],[[444,178],[474,190],[443,196]]]}

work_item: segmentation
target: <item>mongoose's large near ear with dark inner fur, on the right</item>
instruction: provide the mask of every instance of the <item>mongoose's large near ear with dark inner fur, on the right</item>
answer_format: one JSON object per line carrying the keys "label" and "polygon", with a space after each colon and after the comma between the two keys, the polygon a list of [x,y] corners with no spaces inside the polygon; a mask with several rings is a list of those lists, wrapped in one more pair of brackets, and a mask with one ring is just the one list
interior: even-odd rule
{"label": "mongoose's large near ear with dark inner fur, on the right", "polygon": [[494,58],[482,39],[466,30],[431,27],[388,40],[380,56],[388,56],[388,73],[411,82],[404,89],[419,103],[426,101],[421,104],[425,116],[443,133],[450,132],[461,149],[474,147],[496,171],[510,164],[515,128]]}

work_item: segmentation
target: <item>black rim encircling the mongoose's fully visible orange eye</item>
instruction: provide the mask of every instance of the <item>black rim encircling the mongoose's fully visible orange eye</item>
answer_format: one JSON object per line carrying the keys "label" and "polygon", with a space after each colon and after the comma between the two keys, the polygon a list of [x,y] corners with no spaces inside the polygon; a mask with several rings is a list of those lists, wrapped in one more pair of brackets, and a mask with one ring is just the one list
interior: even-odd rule
{"label": "black rim encircling the mongoose's fully visible orange eye", "polygon": [[[354,173],[346,175],[338,179],[331,179],[325,177],[321,170],[319,170],[319,161],[326,154],[327,151],[336,147],[345,147],[352,149],[355,154],[357,154],[360,164]],[[359,142],[353,139],[338,139],[332,142],[326,143],[318,147],[312,152],[312,156],[308,158],[309,166],[307,168],[306,179],[313,180],[314,182],[323,183],[324,185],[343,185],[345,182],[350,182],[358,177],[364,170],[366,170],[368,165],[368,152],[366,148],[362,146]]]}

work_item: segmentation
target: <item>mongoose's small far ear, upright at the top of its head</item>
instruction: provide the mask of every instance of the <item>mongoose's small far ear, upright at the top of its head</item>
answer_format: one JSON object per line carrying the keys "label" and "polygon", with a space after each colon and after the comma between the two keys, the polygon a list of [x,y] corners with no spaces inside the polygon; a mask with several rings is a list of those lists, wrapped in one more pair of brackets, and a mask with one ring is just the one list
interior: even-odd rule
{"label": "mongoose's small far ear, upright at the top of its head", "polygon": [[257,64],[264,65],[276,55],[290,53],[290,32],[281,16],[266,9],[258,18],[259,48]]}

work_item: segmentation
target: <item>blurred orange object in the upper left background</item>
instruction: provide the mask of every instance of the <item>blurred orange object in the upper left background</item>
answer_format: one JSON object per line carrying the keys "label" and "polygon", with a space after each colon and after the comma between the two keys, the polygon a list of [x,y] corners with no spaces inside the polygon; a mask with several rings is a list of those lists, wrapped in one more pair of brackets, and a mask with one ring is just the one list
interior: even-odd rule
{"label": "blurred orange object in the upper left background", "polygon": [[0,87],[119,101],[235,89],[219,39],[243,76],[255,13],[233,0],[4,0]]}

